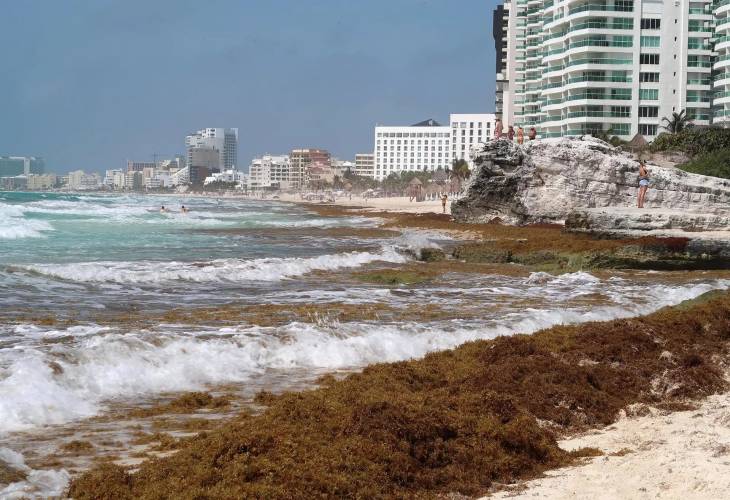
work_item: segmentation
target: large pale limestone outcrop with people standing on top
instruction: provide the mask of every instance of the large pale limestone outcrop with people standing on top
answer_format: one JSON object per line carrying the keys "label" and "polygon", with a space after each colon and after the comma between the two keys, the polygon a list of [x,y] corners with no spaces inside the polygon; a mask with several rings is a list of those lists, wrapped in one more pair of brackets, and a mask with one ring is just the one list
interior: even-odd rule
{"label": "large pale limestone outcrop with people standing on top", "polygon": [[[490,141],[473,153],[478,167],[454,218],[510,224],[564,222],[582,209],[636,205],[639,165],[628,153],[592,137]],[[647,212],[730,215],[730,181],[648,165]],[[718,219],[718,220],[720,220]],[[675,222],[676,223],[676,222]],[[728,228],[730,229],[730,228]]]}

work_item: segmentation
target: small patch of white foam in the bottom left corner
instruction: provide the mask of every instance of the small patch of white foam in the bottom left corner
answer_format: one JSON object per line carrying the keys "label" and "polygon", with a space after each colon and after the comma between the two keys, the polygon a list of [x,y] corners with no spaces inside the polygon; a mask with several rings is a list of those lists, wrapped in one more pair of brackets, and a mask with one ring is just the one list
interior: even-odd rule
{"label": "small patch of white foam in the bottom left corner", "polygon": [[14,469],[26,477],[0,489],[0,499],[60,497],[70,479],[66,470],[34,470],[23,455],[9,448],[0,448],[0,466]]}

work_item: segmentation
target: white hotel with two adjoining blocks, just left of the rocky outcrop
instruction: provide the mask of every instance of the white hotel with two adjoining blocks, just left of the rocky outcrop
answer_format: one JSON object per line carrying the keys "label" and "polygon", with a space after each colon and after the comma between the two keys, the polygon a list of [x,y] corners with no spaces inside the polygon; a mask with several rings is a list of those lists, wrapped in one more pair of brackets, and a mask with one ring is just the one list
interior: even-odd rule
{"label": "white hotel with two adjoining blocks, just left of the rocky outcrop", "polygon": [[488,140],[494,132],[493,114],[452,114],[450,124],[426,120],[408,127],[376,126],[373,177],[451,168],[454,160],[472,164],[472,146]]}

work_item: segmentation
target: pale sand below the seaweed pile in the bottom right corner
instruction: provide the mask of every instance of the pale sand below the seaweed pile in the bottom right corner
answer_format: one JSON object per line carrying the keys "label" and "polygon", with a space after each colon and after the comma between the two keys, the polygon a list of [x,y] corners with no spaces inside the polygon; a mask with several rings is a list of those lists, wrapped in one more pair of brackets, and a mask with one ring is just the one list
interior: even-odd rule
{"label": "pale sand below the seaweed pile in the bottom right corner", "polygon": [[559,443],[568,451],[598,448],[603,456],[485,498],[726,498],[730,393],[710,396],[690,411],[643,409],[649,414],[630,418],[624,412],[605,429]]}

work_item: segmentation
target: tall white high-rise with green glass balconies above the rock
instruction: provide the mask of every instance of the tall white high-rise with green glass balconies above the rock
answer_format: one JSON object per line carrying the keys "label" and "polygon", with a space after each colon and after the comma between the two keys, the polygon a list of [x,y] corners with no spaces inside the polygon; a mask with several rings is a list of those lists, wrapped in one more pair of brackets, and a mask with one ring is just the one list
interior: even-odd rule
{"label": "tall white high-rise with green glass balconies above the rock", "polygon": [[505,0],[493,26],[505,127],[651,140],[683,109],[730,121],[730,0]]}

